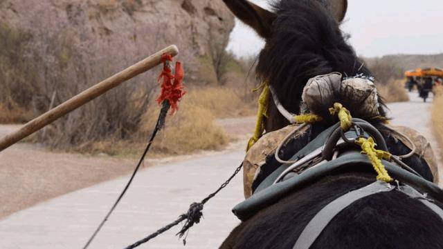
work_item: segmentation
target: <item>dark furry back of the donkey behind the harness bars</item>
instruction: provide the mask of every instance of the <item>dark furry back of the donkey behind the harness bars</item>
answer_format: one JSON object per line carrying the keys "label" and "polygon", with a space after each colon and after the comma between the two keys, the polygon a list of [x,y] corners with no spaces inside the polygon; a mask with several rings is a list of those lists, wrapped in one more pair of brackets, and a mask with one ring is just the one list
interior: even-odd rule
{"label": "dark furry back of the donkey behind the harness bars", "polygon": [[[240,224],[220,248],[291,249],[321,208],[372,181],[373,175],[355,172],[321,179]],[[437,249],[443,248],[442,235],[440,217],[416,199],[393,191],[372,195],[345,208],[311,249]]]}

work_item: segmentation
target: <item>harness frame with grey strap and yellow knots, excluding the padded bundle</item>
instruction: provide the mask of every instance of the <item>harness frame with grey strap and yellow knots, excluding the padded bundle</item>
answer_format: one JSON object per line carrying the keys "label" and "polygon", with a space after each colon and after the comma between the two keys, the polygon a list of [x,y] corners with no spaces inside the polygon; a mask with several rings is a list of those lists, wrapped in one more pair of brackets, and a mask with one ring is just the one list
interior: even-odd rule
{"label": "harness frame with grey strap and yellow knots, excluding the padded bundle", "polygon": [[[343,117],[349,121],[345,124],[347,127],[343,127],[344,122],[341,119],[341,122],[320,133],[287,161],[278,157],[279,146],[275,158],[284,163],[255,188],[249,199],[233,208],[234,214],[245,221],[266,206],[309,183],[359,165],[374,166],[379,175],[377,181],[348,192],[323,207],[305,226],[293,246],[294,249],[310,248],[338,213],[355,201],[380,192],[396,190],[417,199],[443,221],[443,209],[434,203],[443,203],[443,190],[402,163],[398,157],[390,155],[383,136],[370,123],[362,119],[352,119],[349,113],[343,114]],[[362,155],[356,144],[367,155]],[[374,148],[376,144],[379,150]],[[377,169],[377,165],[382,167]]]}

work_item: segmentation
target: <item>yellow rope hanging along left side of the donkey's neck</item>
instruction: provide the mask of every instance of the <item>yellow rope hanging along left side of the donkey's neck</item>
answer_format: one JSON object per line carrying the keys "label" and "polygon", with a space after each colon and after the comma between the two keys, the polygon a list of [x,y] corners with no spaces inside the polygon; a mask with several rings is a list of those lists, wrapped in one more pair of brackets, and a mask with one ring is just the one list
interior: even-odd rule
{"label": "yellow rope hanging along left side of the donkey's neck", "polygon": [[257,112],[257,122],[255,123],[254,135],[249,139],[248,146],[246,147],[246,152],[262,137],[264,132],[264,118],[268,117],[269,108],[269,87],[266,83],[263,83],[259,88],[253,91],[260,90],[263,88],[262,94],[258,99],[258,112]]}

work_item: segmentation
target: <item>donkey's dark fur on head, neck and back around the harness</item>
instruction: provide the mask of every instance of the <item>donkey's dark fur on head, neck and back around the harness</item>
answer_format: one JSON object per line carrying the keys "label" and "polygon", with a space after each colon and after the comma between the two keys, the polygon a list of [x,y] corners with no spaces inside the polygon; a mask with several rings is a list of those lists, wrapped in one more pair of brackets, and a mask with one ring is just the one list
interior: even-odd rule
{"label": "donkey's dark fur on head, neck and back around the harness", "polygon": [[[247,7],[244,0],[224,1],[231,9],[236,8],[234,1]],[[273,5],[276,15],[271,34],[264,37],[266,46],[260,53],[257,75],[269,81],[282,105],[293,113],[299,112],[302,88],[311,77],[329,72],[348,76],[359,73],[370,75],[323,4],[318,0],[277,1]],[[358,107],[347,108],[352,112],[352,108]],[[384,116],[383,106],[380,111]],[[277,130],[287,124],[275,106],[271,106],[266,130]],[[290,153],[293,155],[318,135],[323,126],[327,124],[314,126],[309,137],[298,141],[300,143],[294,145]],[[388,135],[385,137],[394,154],[402,155],[409,151],[395,139]],[[413,157],[408,160],[406,163],[432,180],[431,172],[422,159]],[[277,166],[274,163],[272,167]],[[267,169],[267,172],[272,171],[272,168]],[[321,208],[372,181],[374,174],[368,172],[342,172],[341,175],[320,179],[241,223],[221,248],[293,248],[300,232]],[[437,205],[442,206],[441,203]],[[443,221],[440,217],[416,199],[392,191],[372,195],[347,207],[329,223],[311,249],[437,249],[443,248],[442,235]]]}

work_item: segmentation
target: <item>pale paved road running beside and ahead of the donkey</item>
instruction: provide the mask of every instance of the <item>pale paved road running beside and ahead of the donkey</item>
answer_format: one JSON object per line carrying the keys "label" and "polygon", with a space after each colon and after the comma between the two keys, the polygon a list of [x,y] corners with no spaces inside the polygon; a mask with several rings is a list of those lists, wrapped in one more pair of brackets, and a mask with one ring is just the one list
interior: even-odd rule
{"label": "pale paved road running beside and ahead of the donkey", "polygon": [[[430,103],[411,95],[409,103],[390,104],[393,123],[431,137]],[[424,125],[425,124],[425,125]],[[435,141],[431,140],[431,143]],[[435,143],[434,143],[435,146]],[[139,174],[114,215],[90,248],[123,248],[175,219],[192,201],[202,199],[224,181],[242,160],[242,151],[147,168]],[[0,247],[81,248],[105,215],[127,177],[40,203],[0,221]],[[192,228],[187,248],[217,248],[238,223],[230,208],[242,200],[242,178],[211,200],[204,220]],[[177,228],[141,248],[183,248]]]}

